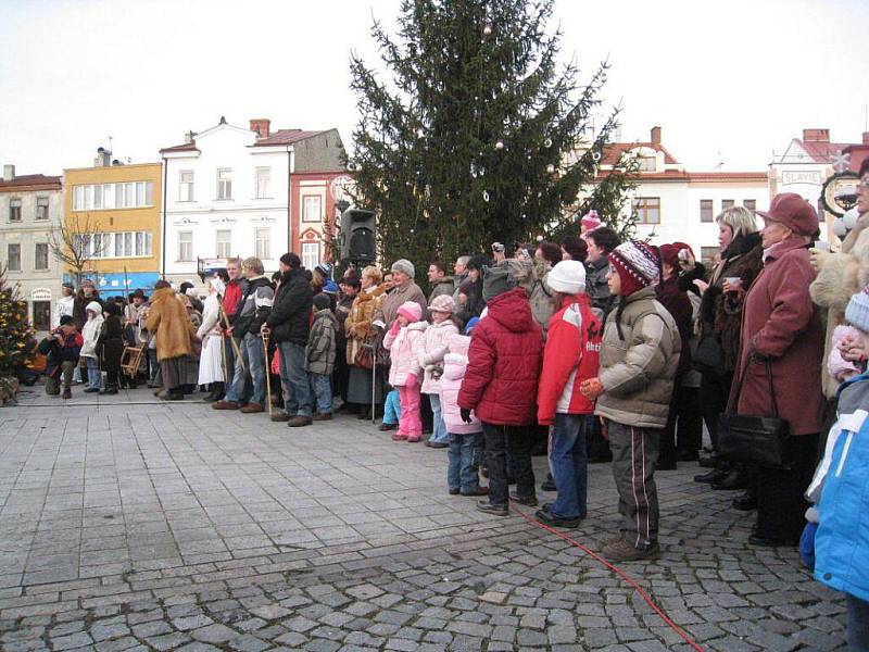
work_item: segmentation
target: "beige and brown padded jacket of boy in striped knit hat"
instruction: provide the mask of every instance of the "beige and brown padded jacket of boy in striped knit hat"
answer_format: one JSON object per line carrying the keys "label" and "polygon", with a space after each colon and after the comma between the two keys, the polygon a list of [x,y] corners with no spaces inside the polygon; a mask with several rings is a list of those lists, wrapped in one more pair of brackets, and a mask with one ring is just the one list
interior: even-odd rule
{"label": "beige and brown padded jacket of boy in striped knit hat", "polygon": [[670,313],[655,301],[655,288],[622,297],[621,335],[618,309],[609,312],[601,344],[597,378],[604,394],[594,414],[626,426],[664,428],[670,411],[682,342]]}

